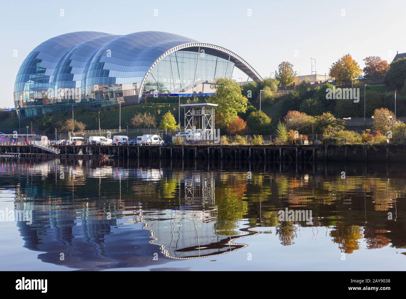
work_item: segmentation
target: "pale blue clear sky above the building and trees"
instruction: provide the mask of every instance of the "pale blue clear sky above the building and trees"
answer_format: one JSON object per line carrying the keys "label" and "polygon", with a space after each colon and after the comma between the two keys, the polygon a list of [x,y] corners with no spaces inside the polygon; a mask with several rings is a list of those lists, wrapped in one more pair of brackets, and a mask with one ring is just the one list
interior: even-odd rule
{"label": "pale blue clear sky above the building and trees", "polygon": [[[65,10],[64,17],[60,9]],[[154,9],[158,17],[153,16]],[[390,63],[397,50],[406,52],[405,11],[402,0],[2,0],[0,107],[13,107],[15,76],[26,55],[42,41],[67,32],[166,31],[223,46],[263,77],[285,60],[300,75],[310,74],[310,57],[317,59],[317,74],[324,74],[346,53],[363,68],[367,56],[380,56]],[[241,74],[235,71],[234,79]]]}

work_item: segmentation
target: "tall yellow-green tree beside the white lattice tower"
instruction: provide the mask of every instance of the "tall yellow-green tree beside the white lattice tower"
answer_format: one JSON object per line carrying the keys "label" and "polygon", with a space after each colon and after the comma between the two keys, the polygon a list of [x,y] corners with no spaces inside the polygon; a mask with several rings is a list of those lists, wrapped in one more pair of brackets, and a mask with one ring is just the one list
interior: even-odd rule
{"label": "tall yellow-green tree beside the white lattice tower", "polygon": [[217,78],[214,87],[216,93],[209,100],[218,105],[215,118],[218,127],[226,129],[237,113],[246,111],[248,99],[241,94],[241,86],[235,80]]}

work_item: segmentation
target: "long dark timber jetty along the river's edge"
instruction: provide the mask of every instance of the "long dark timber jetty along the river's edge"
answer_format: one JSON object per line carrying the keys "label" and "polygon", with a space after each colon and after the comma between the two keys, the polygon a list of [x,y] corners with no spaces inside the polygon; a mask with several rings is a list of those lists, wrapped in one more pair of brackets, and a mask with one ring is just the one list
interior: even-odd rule
{"label": "long dark timber jetty along the river's edge", "polygon": [[[110,155],[119,158],[174,159],[174,160],[248,160],[267,161],[406,161],[406,144],[171,144],[171,145],[53,145],[58,154],[30,144],[1,144],[0,154],[22,154],[25,156],[45,155],[47,157],[76,159],[99,159]],[[89,155],[88,153],[92,153]],[[28,154],[28,155],[26,155]]]}

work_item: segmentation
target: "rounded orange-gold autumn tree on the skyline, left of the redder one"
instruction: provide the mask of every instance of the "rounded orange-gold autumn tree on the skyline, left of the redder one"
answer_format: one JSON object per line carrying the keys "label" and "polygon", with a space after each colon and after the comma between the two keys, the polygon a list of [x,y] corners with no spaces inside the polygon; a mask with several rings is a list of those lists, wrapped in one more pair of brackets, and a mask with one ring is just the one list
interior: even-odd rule
{"label": "rounded orange-gold autumn tree on the skyline, left of the redder one", "polygon": [[335,78],[336,83],[342,83],[358,78],[361,73],[358,63],[350,54],[346,54],[331,65],[329,76]]}

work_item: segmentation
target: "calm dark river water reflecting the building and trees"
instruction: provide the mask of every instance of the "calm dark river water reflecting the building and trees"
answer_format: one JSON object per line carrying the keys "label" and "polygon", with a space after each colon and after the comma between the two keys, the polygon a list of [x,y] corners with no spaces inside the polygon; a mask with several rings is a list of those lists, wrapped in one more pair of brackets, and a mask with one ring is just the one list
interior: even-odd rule
{"label": "calm dark river water reflecting the building and trees", "polygon": [[0,269],[404,270],[405,166],[0,158]]}

